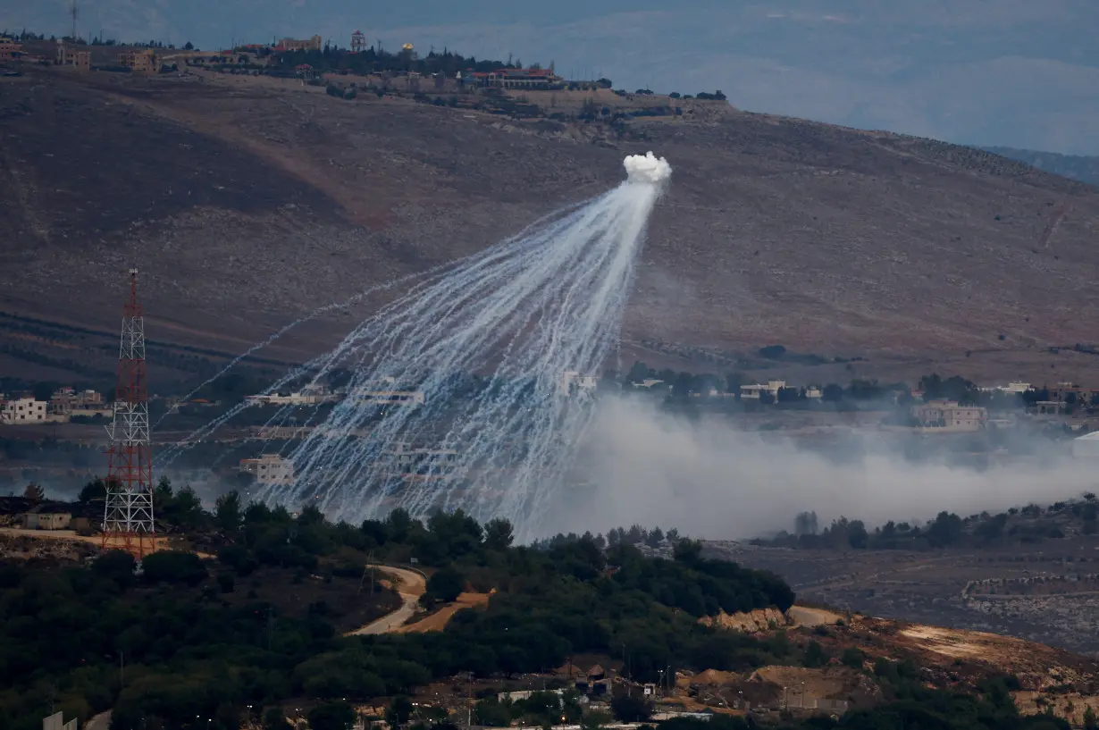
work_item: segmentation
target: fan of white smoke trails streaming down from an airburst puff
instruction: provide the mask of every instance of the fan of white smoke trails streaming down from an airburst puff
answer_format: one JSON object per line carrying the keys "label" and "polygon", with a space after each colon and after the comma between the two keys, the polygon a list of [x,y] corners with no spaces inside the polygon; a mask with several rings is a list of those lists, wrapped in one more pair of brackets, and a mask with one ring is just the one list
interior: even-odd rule
{"label": "fan of white smoke trails streaming down from an airburst puff", "polygon": [[671,175],[652,153],[624,166],[613,190],[430,277],[281,380],[341,373],[345,385],[284,454],[293,483],[257,496],[349,521],[463,509],[537,534],[593,416],[569,374],[597,376],[613,351]]}

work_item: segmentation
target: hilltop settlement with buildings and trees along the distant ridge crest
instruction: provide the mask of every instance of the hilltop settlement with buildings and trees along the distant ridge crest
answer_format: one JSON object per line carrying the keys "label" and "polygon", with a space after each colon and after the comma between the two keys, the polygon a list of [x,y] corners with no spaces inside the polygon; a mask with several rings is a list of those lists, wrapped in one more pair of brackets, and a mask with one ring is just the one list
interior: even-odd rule
{"label": "hilltop settlement with buildings and trees along the distant ridge crest", "polygon": [[[613,89],[608,78],[581,78],[595,74],[557,73],[553,62],[524,65],[518,58],[479,60],[446,48],[421,55],[411,43],[393,52],[381,42],[368,46],[360,31],[351,35],[351,47],[340,47],[320,35],[281,38],[269,44],[232,44],[229,48],[202,51],[159,43],[123,45],[103,38],[46,38],[24,32],[19,37],[0,36],[0,70],[20,75],[29,67],[57,67],[80,73],[118,73],[135,76],[175,75],[208,77],[209,74],[264,76],[319,86],[330,96],[355,99],[359,93],[411,97],[451,107],[482,109],[515,118],[548,117],[580,121],[613,122],[625,117],[691,118],[710,110],[730,109],[720,90],[667,96],[650,89]],[[560,92],[559,97],[532,103],[526,92]],[[587,92],[573,99],[569,91]],[[518,97],[518,98],[517,98]],[[615,103],[628,99],[623,108]],[[496,101],[496,103],[491,103]],[[714,104],[714,102],[720,102]]]}

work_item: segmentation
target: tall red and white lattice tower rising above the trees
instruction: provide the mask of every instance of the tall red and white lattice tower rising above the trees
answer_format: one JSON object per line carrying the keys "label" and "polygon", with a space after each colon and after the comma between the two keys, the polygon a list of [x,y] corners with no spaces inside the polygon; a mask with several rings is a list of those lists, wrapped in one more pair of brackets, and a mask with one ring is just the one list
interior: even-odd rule
{"label": "tall red and white lattice tower rising above the trees", "polygon": [[153,456],[145,380],[145,320],[137,303],[137,269],[130,269],[130,301],[122,309],[119,380],[114,391],[103,511],[103,550],[137,560],[156,550],[153,526]]}

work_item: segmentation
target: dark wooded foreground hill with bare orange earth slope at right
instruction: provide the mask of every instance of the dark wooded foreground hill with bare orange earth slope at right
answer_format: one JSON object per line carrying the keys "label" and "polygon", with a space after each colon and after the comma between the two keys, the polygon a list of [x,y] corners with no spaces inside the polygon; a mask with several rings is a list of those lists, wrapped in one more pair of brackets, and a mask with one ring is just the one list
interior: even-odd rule
{"label": "dark wooded foreground hill with bare orange earth slope at right", "polygon": [[[291,517],[226,499],[211,515],[187,488],[158,495],[174,526],[214,543],[217,557],[158,551],[135,571],[124,553],[87,561],[62,541],[0,535],[0,670],[13,677],[0,695],[4,728],[38,727],[49,704],[81,723],[110,711],[115,730],[302,716],[336,730],[355,710],[431,730],[473,719],[604,727],[611,715],[658,730],[1014,730],[1067,728],[1099,706],[1095,660],[792,606],[774,574],[707,560],[689,540],[655,560],[601,535],[513,546],[506,521],[482,527],[460,512],[424,523],[397,510],[354,527],[312,507]],[[391,588],[404,593],[391,580],[408,573],[391,566],[413,554],[426,576],[425,590],[412,589],[419,604],[442,605],[433,617],[470,589],[482,599],[440,626],[341,635],[382,613],[389,622]],[[390,567],[367,594],[371,560]]]}

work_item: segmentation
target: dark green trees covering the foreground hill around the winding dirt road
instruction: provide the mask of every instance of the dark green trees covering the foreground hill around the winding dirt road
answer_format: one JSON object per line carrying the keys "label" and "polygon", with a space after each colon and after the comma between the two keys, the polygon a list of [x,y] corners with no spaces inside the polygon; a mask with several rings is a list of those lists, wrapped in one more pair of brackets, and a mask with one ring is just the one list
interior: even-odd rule
{"label": "dark green trees covering the foreground hill around the winding dirt road", "polygon": [[[102,494],[98,482],[81,496]],[[630,674],[654,679],[669,664],[750,668],[790,651],[698,623],[720,609],[785,609],[793,595],[773,575],[700,558],[690,541],[675,560],[654,561],[621,540],[604,550],[590,537],[515,546],[508,522],[481,526],[460,512],[420,521],[396,510],[333,524],[312,507],[292,517],[230,494],[208,513],[190,489],[167,482],[155,499],[173,527],[222,535],[217,560],[158,552],[138,574],[124,553],[90,566],[0,566],[0,676],[9,678],[0,727],[37,727],[53,705],[81,719],[113,708],[115,730],[181,729],[195,717],[235,730],[248,706],[259,714],[306,698],[338,719],[345,698],[408,694],[465,672],[550,670],[580,652],[618,655],[624,646]],[[497,594],[443,632],[363,638],[341,637],[324,604],[291,615],[251,591],[226,599],[240,590],[234,580],[287,575],[265,566],[357,579],[371,553],[415,557],[432,573],[431,601],[464,588]]]}

